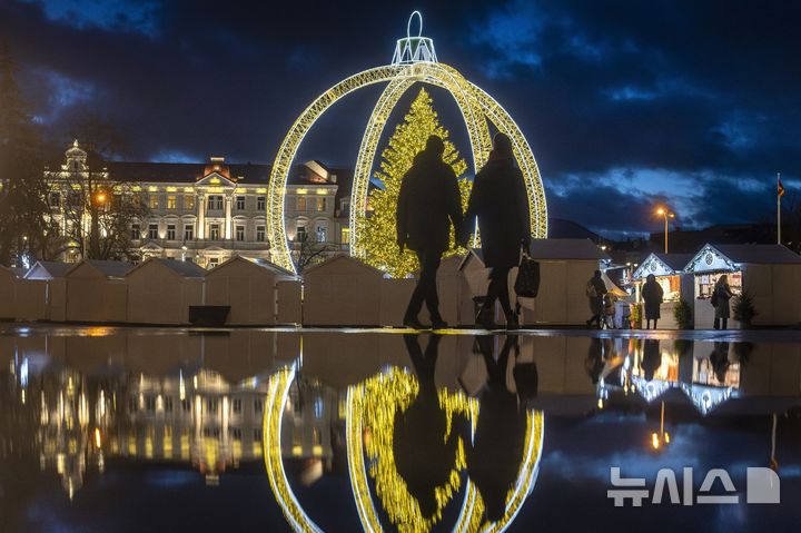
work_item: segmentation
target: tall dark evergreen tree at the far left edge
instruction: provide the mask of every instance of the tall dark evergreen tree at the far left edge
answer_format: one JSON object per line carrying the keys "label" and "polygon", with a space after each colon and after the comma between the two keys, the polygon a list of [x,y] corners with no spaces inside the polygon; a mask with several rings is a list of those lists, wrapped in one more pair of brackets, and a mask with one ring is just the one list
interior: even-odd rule
{"label": "tall dark evergreen tree at the far left edge", "polygon": [[39,256],[47,186],[39,137],[17,85],[8,43],[0,45],[0,264]]}

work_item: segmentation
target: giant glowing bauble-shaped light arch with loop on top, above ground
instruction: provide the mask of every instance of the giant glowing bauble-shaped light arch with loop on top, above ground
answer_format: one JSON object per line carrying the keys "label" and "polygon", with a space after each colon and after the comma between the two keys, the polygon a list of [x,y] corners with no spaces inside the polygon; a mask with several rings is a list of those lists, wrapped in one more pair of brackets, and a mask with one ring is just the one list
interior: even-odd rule
{"label": "giant glowing bauble-shaped light arch with loop on top, above ground", "polygon": [[[417,36],[412,37],[412,22],[419,22]],[[350,196],[350,255],[363,258],[367,189],[378,141],[384,127],[404,92],[419,81],[447,90],[456,100],[467,127],[474,171],[486,162],[491,149],[490,124],[512,139],[517,165],[525,180],[531,215],[531,234],[535,238],[547,235],[547,207],[540,170],[528,141],[508,112],[478,86],[466,80],[456,69],[437,61],[434,41],[423,37],[423,17],[414,11],[409,17],[406,37],[398,39],[390,65],[376,67],[346,78],[307,107],[289,129],[278,149],[270,174],[267,205],[267,233],[273,245],[273,263],[295,272],[287,241],[284,197],[293,160],[306,134],[315,121],[340,98],[375,83],[388,82],[378,98],[365,128],[359,147]]]}

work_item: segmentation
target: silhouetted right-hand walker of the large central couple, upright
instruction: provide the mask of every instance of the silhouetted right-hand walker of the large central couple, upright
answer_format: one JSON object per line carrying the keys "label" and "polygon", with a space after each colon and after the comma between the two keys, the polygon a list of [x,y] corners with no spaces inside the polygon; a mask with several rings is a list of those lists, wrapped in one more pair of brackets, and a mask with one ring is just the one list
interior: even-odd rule
{"label": "silhouetted right-hand walker of the large central couple, upright", "polygon": [[[493,151],[484,168],[476,175],[465,215],[465,230],[478,218],[484,265],[492,268],[490,287],[476,324],[495,328],[493,309],[501,302],[506,327],[517,327],[517,315],[512,310],[508,294],[508,273],[520,265],[521,244],[531,240],[528,197],[523,174],[515,166],[512,141],[504,134],[493,138]],[[462,241],[467,235],[462,231]]]}

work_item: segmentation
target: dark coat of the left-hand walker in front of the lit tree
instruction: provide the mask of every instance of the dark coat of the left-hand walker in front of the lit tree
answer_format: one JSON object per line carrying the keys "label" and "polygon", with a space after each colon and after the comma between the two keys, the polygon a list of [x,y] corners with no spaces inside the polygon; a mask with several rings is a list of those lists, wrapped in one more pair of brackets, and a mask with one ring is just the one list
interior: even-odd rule
{"label": "dark coat of the left-hand walker in front of the lit tree", "polygon": [[400,182],[397,241],[413,250],[443,253],[451,224],[462,227],[462,197],[453,168],[433,151],[419,152]]}

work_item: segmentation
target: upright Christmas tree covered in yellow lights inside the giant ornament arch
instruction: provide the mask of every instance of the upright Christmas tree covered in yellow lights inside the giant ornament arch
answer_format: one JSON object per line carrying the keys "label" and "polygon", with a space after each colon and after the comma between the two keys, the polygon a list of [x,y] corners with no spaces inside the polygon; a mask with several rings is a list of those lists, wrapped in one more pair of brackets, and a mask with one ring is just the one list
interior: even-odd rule
{"label": "upright Christmas tree covered in yellow lights inside the giant ornament arch", "polygon": [[[382,152],[380,170],[375,172],[376,179],[383,182],[383,189],[374,189],[367,199],[369,206],[368,218],[365,221],[364,245],[365,260],[392,277],[405,277],[418,268],[414,253],[406,250],[398,254],[396,243],[396,217],[400,181],[412,168],[414,157],[425,148],[431,135],[437,135],[445,141],[443,160],[451,165],[457,177],[467,169],[467,164],[458,155],[454,145],[448,141],[448,131],[439,125],[437,113],[432,107],[432,98],[421,89],[417,98],[412,102],[409,112],[404,121],[395,127],[388,146]],[[472,182],[459,179],[462,194],[462,209],[466,209]],[[463,254],[464,248],[457,248],[454,243],[453,229],[451,231],[451,249],[446,256]]]}

